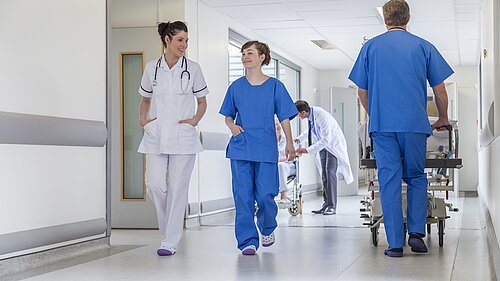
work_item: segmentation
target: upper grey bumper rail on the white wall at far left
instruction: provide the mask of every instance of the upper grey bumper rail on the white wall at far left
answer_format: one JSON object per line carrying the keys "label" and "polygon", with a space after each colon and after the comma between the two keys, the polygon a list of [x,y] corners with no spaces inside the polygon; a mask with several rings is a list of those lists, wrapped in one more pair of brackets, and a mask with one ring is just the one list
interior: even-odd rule
{"label": "upper grey bumper rail on the white wall at far left", "polygon": [[104,122],[0,112],[0,144],[103,147]]}

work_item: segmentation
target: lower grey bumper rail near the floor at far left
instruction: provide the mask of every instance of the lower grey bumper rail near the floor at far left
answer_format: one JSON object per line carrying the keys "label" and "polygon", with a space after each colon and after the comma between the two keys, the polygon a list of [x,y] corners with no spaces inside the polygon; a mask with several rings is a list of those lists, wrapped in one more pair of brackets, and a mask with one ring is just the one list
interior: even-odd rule
{"label": "lower grey bumper rail near the floor at far left", "polygon": [[0,255],[104,234],[104,219],[94,219],[0,235]]}

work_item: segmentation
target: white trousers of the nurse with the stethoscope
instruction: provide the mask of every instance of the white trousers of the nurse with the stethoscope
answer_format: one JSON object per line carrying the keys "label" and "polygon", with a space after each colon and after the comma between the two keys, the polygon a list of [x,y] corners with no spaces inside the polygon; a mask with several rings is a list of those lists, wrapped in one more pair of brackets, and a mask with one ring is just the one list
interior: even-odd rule
{"label": "white trousers of the nurse with the stethoscope", "polygon": [[146,187],[156,207],[162,247],[176,248],[181,239],[195,159],[196,154],[146,155]]}

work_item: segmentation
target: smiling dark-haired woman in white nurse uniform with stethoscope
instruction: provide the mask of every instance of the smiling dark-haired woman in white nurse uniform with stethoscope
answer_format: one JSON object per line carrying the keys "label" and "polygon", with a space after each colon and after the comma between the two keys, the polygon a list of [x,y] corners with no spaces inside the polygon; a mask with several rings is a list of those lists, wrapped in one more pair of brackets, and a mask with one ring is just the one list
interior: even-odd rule
{"label": "smiling dark-haired woman in white nurse uniform with stethoscope", "polygon": [[200,66],[184,57],[187,32],[180,21],[158,25],[165,53],[146,65],[139,88],[144,136],[138,151],[146,154],[146,187],[163,235],[159,256],[176,252],[195,156],[202,151],[195,127],[207,109],[208,88]]}

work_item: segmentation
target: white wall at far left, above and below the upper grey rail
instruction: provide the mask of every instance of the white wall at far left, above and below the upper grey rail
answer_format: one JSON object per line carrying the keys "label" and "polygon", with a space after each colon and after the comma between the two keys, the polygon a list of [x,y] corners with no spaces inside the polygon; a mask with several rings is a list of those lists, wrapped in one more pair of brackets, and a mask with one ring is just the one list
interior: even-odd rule
{"label": "white wall at far left, above and below the upper grey rail", "polygon": [[[2,1],[0,36],[0,111],[106,121],[105,1]],[[106,218],[105,148],[0,155],[0,234]]]}

